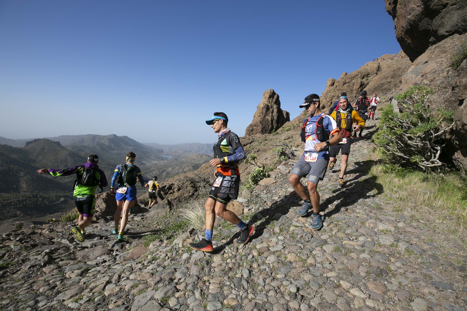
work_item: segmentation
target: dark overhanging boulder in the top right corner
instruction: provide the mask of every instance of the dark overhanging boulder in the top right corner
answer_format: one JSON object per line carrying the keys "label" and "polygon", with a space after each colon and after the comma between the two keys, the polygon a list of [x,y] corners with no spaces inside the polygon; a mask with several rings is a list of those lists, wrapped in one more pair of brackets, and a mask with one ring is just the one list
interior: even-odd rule
{"label": "dark overhanging boulder in the top right corner", "polygon": [[454,34],[467,33],[465,0],[385,0],[396,38],[410,61]]}

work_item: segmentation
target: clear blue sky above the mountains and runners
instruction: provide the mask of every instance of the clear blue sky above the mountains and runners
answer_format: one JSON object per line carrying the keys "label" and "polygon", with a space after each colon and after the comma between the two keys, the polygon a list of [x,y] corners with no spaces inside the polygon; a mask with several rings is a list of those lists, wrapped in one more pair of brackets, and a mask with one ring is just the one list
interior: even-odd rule
{"label": "clear blue sky above the mountains and runners", "polygon": [[383,0],[0,1],[0,136],[239,136],[274,89],[296,117],[330,77],[400,46]]}

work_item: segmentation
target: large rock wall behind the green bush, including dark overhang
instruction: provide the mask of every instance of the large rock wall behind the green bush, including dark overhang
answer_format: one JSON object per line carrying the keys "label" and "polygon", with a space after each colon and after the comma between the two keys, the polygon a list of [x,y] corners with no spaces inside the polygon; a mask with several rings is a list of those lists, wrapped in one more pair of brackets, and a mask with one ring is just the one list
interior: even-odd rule
{"label": "large rock wall behind the green bush, including dark overhang", "polygon": [[467,63],[451,67],[451,55],[467,40],[465,0],[385,0],[393,17],[396,37],[413,64],[402,76],[397,92],[411,85],[427,85],[437,92],[433,107],[455,110],[453,136],[446,156],[458,168],[467,167]]}

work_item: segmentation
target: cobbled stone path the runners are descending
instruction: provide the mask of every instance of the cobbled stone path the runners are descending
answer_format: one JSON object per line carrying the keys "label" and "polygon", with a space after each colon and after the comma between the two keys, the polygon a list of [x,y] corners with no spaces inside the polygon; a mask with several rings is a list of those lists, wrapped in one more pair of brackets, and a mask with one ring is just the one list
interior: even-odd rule
{"label": "cobbled stone path the runners are descending", "polygon": [[[377,121],[368,121],[367,136]],[[449,310],[467,308],[462,242],[417,211],[394,211],[368,177],[368,138],[352,145],[346,184],[337,170],[318,186],[324,227],[298,217],[288,183],[294,161],[240,198],[256,232],[238,246],[220,222],[215,251],[186,245],[202,234],[143,246],[154,232],[144,214],[129,222],[129,242],[92,224],[79,244],[65,224],[16,229],[0,239],[1,310]],[[340,162],[336,164],[339,169]]]}

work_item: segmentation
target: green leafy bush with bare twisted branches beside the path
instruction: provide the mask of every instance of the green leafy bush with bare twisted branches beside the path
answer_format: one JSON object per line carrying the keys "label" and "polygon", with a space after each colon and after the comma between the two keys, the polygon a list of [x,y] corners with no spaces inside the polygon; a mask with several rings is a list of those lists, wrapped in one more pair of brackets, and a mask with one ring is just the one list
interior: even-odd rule
{"label": "green leafy bush with bare twisted branches beside the path", "polygon": [[424,172],[438,172],[439,154],[446,145],[446,133],[454,125],[454,111],[438,108],[432,113],[428,98],[433,89],[411,86],[395,99],[405,111],[394,112],[392,105],[382,111],[381,129],[373,137],[383,160],[411,166]]}

